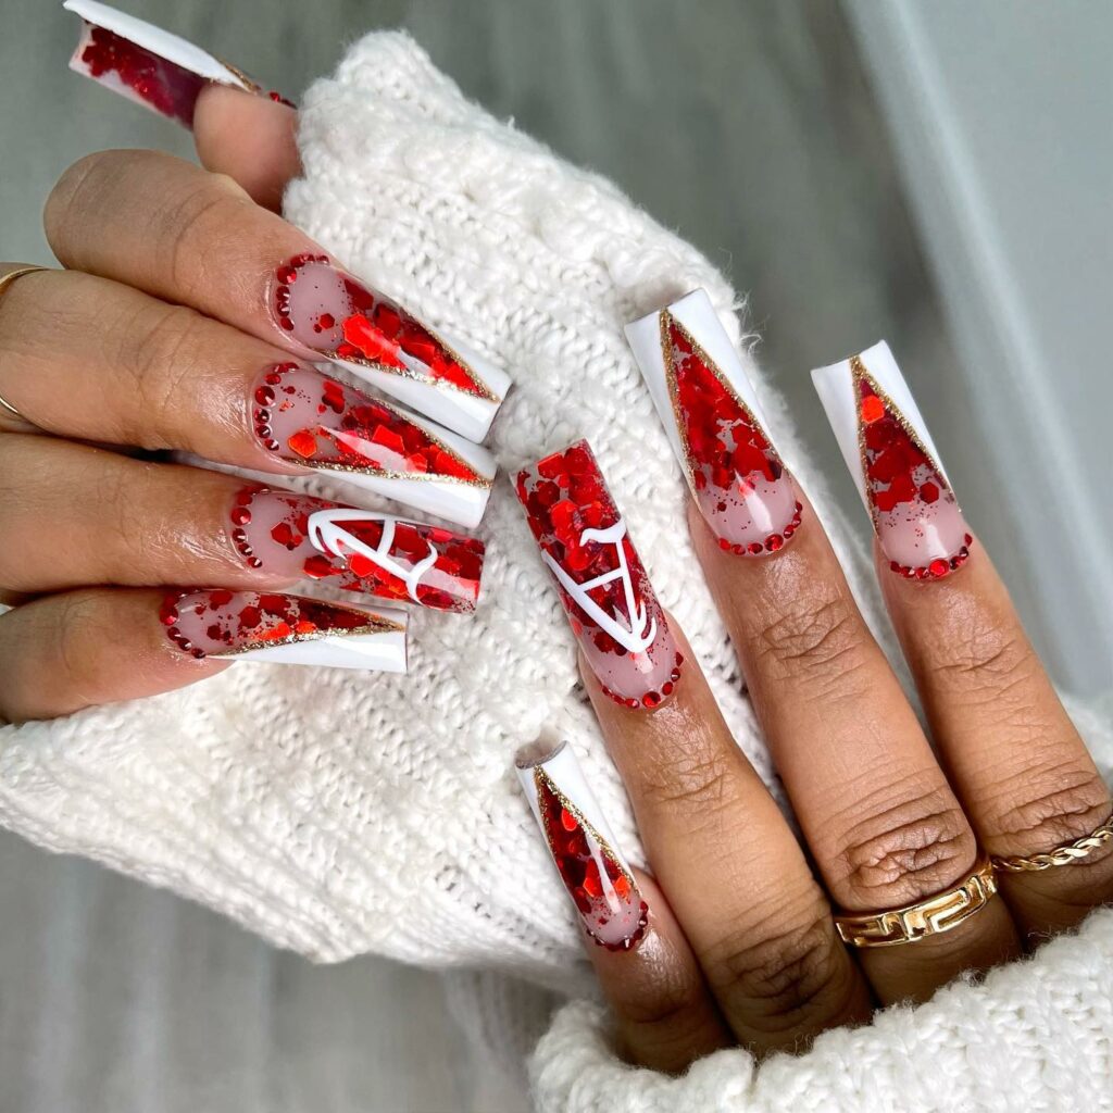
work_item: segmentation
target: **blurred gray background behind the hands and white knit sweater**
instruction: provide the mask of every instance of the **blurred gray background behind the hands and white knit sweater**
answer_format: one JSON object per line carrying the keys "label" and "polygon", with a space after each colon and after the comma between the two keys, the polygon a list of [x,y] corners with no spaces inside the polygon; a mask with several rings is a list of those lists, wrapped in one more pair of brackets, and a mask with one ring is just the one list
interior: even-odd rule
{"label": "blurred gray background behind the hands and white knit sweater", "polygon": [[[60,7],[0,4],[0,255],[48,263],[39,214],[69,162],[190,147],[67,72],[76,20]],[[750,293],[761,358],[855,512],[807,370],[887,338],[1057,678],[1109,683],[1107,590],[1090,573],[1113,549],[1101,515],[1083,528],[1078,514],[1091,492],[1109,508],[1113,8],[126,6],[295,98],[362,31],[407,27],[466,92],[614,177]],[[0,835],[0,1113],[522,1107],[470,1067],[434,975],[313,968]]]}

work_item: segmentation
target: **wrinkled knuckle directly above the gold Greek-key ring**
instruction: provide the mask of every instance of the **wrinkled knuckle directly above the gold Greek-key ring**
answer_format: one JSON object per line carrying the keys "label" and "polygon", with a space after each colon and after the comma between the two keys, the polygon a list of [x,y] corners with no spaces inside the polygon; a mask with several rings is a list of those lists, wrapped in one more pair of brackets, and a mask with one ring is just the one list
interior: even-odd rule
{"label": "wrinkled knuckle directly above the gold Greek-key ring", "polygon": [[946,788],[905,789],[846,835],[833,888],[849,908],[899,907],[954,885],[975,854],[974,831]]}

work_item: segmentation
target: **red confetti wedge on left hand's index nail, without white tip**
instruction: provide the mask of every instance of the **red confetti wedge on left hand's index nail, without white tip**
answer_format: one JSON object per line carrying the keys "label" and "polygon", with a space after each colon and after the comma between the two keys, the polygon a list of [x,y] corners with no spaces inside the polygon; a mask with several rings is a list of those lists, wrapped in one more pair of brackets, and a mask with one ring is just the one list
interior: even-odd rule
{"label": "red confetti wedge on left hand's index nail, without white tip", "polygon": [[285,333],[322,355],[500,401],[443,339],[326,255],[277,268],[274,311]]}

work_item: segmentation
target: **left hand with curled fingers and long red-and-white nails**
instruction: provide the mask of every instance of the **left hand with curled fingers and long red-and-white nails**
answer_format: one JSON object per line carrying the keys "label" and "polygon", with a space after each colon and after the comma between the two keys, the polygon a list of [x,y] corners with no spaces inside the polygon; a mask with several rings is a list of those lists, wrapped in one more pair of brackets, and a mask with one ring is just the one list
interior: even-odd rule
{"label": "left hand with curled fingers and long red-and-white nails", "polygon": [[[297,170],[294,121],[285,105],[205,88],[193,122],[208,170],[142,150],[81,159],[46,205],[66,269],[3,284],[0,590],[20,605],[0,617],[0,717],[181,687],[233,654],[404,669],[401,612],[278,593],[293,584],[474,604],[473,539],[151,455],[185,450],[278,483],[324,471],[465,524],[482,513],[484,450],[304,362],[371,376],[408,345],[403,385],[426,348],[439,373],[471,373],[273,211]],[[494,405],[464,416],[490,423]]]}

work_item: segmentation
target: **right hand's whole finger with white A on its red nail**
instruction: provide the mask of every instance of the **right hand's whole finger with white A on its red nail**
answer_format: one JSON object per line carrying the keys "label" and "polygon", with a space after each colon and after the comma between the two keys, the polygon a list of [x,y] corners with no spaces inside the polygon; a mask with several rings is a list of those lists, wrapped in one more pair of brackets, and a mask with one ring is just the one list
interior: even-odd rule
{"label": "right hand's whole finger with white A on its red nail", "polygon": [[868,1015],[804,854],[660,609],[587,443],[518,490],[653,874],[731,1030],[768,1051]]}

